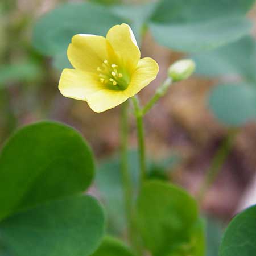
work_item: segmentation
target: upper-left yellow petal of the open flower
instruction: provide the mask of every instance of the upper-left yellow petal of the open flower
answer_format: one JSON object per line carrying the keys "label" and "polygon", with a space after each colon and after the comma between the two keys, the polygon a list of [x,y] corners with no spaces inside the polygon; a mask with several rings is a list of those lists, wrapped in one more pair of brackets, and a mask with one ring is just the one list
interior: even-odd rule
{"label": "upper-left yellow petal of the open flower", "polygon": [[108,60],[108,43],[103,36],[77,34],[68,47],[68,59],[76,69],[96,72]]}

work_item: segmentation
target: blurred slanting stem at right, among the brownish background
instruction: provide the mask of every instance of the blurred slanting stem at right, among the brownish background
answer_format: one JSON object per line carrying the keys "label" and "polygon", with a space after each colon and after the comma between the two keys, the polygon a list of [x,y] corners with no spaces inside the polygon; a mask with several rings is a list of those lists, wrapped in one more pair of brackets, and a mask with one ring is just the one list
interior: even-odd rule
{"label": "blurred slanting stem at right, among the brownish background", "polygon": [[199,189],[199,193],[197,194],[197,199],[199,203],[203,201],[205,193],[208,191],[208,189],[217,179],[217,176],[221,171],[221,167],[225,163],[226,158],[228,158],[233,148],[234,139],[236,138],[237,133],[238,133],[238,130],[230,129],[228,135],[222,142],[220,148],[218,148],[216,155],[214,155],[212,163],[210,164],[207,174]]}

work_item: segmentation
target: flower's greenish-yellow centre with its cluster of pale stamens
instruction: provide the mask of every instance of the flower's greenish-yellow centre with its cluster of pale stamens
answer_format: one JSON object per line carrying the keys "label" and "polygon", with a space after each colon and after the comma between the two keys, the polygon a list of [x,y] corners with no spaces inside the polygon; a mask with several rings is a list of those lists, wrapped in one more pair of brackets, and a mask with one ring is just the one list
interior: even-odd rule
{"label": "flower's greenish-yellow centre with its cluster of pale stamens", "polygon": [[118,65],[110,64],[108,60],[104,60],[102,67],[97,67],[98,76],[102,84],[109,89],[125,90],[130,82],[130,78]]}

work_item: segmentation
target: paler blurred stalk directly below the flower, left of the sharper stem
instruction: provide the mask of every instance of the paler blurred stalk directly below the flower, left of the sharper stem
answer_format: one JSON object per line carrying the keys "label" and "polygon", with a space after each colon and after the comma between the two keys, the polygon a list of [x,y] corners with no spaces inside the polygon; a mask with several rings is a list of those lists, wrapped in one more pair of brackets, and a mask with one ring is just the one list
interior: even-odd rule
{"label": "paler blurred stalk directly below the flower, left of the sharper stem", "polygon": [[122,104],[121,111],[121,174],[123,183],[123,196],[125,199],[126,218],[128,226],[128,236],[130,241],[133,230],[133,218],[132,218],[132,200],[133,191],[131,188],[131,179],[128,170],[128,134],[129,134],[129,122],[128,122],[128,106],[129,102],[126,101]]}

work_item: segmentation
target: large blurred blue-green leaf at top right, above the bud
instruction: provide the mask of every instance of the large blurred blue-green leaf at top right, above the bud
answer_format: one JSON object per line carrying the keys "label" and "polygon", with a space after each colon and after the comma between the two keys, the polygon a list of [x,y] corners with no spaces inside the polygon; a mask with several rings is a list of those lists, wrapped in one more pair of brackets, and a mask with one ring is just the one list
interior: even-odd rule
{"label": "large blurred blue-green leaf at top right, above the bud", "polygon": [[162,0],[150,30],[156,42],[184,52],[214,49],[249,34],[246,12],[255,0]]}

